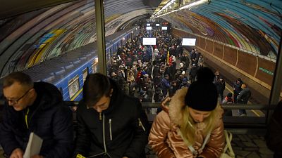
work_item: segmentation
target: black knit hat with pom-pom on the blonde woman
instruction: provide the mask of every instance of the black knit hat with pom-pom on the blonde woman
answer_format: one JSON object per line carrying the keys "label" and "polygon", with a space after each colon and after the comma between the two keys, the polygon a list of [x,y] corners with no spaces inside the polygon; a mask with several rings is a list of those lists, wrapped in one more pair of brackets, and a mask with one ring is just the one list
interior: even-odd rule
{"label": "black knit hat with pom-pom on the blonde woman", "polygon": [[216,86],[212,83],[214,73],[208,67],[197,72],[197,81],[190,84],[185,96],[185,104],[194,110],[212,111],[216,108],[219,97]]}

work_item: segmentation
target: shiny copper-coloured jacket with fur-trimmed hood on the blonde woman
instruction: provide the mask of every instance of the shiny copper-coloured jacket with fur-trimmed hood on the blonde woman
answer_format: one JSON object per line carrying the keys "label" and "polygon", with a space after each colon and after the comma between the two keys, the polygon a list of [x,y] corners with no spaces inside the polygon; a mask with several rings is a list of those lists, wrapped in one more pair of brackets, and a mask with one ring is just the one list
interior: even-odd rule
{"label": "shiny copper-coloured jacket with fur-trimmed hood on the blonde woman", "polygon": [[[154,119],[151,132],[149,133],[149,145],[159,158],[192,158],[192,152],[188,149],[183,139],[180,136],[179,126],[181,122],[181,108],[185,105],[185,95],[188,88],[181,88],[176,91],[175,96],[171,98],[168,106],[168,113],[163,110]],[[197,125],[195,144],[192,145],[194,149],[199,152],[198,157],[204,158],[218,158],[223,150],[225,138],[223,133],[223,121],[221,120],[222,110],[219,111],[218,118],[215,119],[216,124],[211,136],[204,147],[203,151],[198,151],[204,142],[204,134],[202,130],[204,123]]]}

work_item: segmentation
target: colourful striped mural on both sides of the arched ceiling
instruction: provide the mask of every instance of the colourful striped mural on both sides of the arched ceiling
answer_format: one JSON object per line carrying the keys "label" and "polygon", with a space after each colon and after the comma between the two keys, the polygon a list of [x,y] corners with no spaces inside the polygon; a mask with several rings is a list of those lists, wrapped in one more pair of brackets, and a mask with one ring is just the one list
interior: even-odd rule
{"label": "colourful striped mural on both sides of the arched ceiling", "polygon": [[[156,6],[151,4],[149,0],[104,0],[106,35],[131,20],[152,15]],[[275,60],[282,32],[281,7],[281,0],[210,0],[161,18],[185,32]],[[0,60],[4,61],[0,76],[95,41],[95,27],[94,1],[87,0],[0,17]]]}

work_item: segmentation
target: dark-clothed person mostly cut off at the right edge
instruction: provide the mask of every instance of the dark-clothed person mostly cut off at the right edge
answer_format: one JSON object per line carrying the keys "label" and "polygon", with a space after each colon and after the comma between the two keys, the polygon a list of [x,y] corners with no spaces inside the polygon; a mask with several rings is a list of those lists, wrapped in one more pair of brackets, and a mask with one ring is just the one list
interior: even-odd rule
{"label": "dark-clothed person mostly cut off at the right edge", "polygon": [[266,145],[274,152],[274,158],[282,157],[282,100],[276,106],[267,128]]}

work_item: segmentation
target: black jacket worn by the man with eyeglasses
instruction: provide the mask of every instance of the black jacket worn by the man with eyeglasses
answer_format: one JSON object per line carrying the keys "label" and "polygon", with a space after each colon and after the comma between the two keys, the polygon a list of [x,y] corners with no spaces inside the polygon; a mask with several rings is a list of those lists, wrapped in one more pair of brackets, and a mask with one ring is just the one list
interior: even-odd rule
{"label": "black jacket worn by the man with eyeglasses", "polygon": [[34,88],[35,103],[25,110],[17,112],[7,103],[4,105],[4,120],[0,124],[0,144],[4,152],[10,155],[18,147],[25,151],[30,133],[34,132],[43,139],[39,154],[44,158],[70,157],[73,151],[71,110],[63,104],[56,86],[37,82]]}

